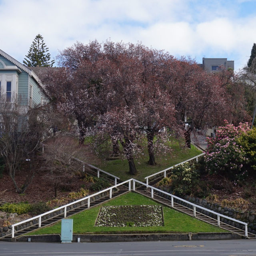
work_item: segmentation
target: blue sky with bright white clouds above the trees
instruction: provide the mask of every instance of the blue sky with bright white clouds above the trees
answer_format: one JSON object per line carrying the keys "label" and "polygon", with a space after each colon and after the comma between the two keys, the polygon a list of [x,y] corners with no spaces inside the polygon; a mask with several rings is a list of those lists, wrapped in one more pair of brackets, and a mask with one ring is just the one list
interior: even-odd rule
{"label": "blue sky with bright white clouds above the trees", "polygon": [[0,20],[0,49],[21,63],[37,34],[52,58],[77,41],[141,42],[236,71],[256,42],[256,0],[0,0]]}

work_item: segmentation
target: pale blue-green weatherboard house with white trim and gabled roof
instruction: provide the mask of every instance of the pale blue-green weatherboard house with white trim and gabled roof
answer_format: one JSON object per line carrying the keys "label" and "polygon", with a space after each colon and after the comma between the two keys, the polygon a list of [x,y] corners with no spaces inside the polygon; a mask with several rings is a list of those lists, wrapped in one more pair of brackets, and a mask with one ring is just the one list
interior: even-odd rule
{"label": "pale blue-green weatherboard house with white trim and gabled roof", "polygon": [[0,96],[7,102],[20,100],[27,110],[48,101],[41,68],[27,67],[0,50]]}

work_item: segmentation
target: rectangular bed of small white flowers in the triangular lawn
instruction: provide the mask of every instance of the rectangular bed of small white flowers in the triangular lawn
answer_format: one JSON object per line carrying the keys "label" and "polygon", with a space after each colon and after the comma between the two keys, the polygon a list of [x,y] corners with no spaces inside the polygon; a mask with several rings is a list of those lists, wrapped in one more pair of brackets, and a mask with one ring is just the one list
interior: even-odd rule
{"label": "rectangular bed of small white flowers in the triangular lawn", "polygon": [[95,223],[98,227],[163,225],[162,206],[159,205],[102,206]]}

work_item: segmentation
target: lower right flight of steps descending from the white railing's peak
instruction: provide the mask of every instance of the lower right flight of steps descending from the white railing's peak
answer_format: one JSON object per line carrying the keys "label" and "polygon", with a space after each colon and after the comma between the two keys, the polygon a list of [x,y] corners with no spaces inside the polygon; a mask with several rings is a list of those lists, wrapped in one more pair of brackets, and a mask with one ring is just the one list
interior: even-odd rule
{"label": "lower right flight of steps descending from the white railing's peak", "polygon": [[[151,185],[152,186],[152,185]],[[138,187],[136,188],[136,192],[137,193],[140,193],[148,198],[151,198],[151,192],[149,192],[145,187]],[[159,196],[159,195],[156,195],[154,194],[154,198],[151,198],[152,200],[156,201],[156,202],[159,202],[161,204],[164,204],[168,207],[172,207],[171,206],[171,201],[166,199],[166,198],[163,198],[162,196]],[[174,200],[174,203],[173,203],[173,209],[174,210],[178,210],[179,212],[183,212],[185,214],[188,214],[189,216],[192,216],[194,217],[194,211],[193,209],[190,209],[186,206],[183,206],[182,204],[178,204],[177,202],[175,202]],[[216,219],[214,218],[211,218],[205,214],[202,214],[200,212],[196,212],[196,217],[197,219],[199,220],[202,220],[204,222],[207,222],[209,224],[212,224],[214,226],[218,226],[218,222]],[[244,234],[244,230],[240,229],[240,228],[236,228],[234,226],[230,226],[224,222],[220,222],[220,228],[223,228],[225,230],[228,230],[232,233],[236,233],[236,234],[239,234],[240,236],[246,238],[245,234]],[[249,233],[248,232],[248,238],[256,238],[256,235],[255,234],[252,234],[252,233]]]}

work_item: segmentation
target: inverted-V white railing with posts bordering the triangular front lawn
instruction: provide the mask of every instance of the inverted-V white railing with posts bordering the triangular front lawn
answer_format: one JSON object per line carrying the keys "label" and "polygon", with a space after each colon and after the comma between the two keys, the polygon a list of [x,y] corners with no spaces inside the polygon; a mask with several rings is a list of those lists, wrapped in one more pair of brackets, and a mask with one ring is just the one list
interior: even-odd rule
{"label": "inverted-V white railing with posts bordering the triangular front lawn", "polygon": [[[112,198],[112,190],[113,190],[113,188],[117,188],[118,186],[121,186],[121,185],[126,184],[126,183],[128,183],[128,191],[130,191],[130,190],[136,191],[136,183],[138,183],[138,184],[140,184],[140,185],[142,185],[142,186],[146,186],[146,188],[150,188],[150,189],[151,189],[151,198],[154,198],[154,191],[158,191],[158,192],[160,192],[160,193],[163,193],[163,194],[166,194],[166,195],[170,196],[170,197],[171,197],[171,206],[172,206],[172,208],[174,207],[174,198],[177,199],[177,200],[180,200],[180,201],[182,201],[182,202],[184,202],[184,203],[186,203],[186,204],[189,204],[189,205],[193,206],[194,217],[196,217],[196,209],[205,210],[206,212],[210,212],[210,213],[212,213],[212,214],[215,214],[215,215],[217,216],[217,223],[218,223],[218,226],[220,226],[220,217],[226,218],[226,219],[228,219],[228,220],[232,220],[232,221],[237,222],[237,223],[240,223],[240,224],[242,224],[242,225],[245,226],[245,227],[244,227],[245,236],[246,236],[246,237],[248,236],[248,232],[247,232],[247,223],[245,223],[245,222],[242,222],[242,221],[240,221],[240,220],[235,220],[235,219],[233,219],[233,218],[230,218],[230,217],[228,217],[228,216],[219,214],[218,212],[214,212],[214,211],[212,211],[212,210],[208,210],[207,208],[204,208],[204,207],[202,207],[202,206],[198,206],[198,205],[196,205],[196,204],[193,204],[193,203],[191,203],[191,202],[189,202],[189,201],[186,201],[186,200],[184,200],[184,199],[182,199],[182,198],[179,198],[178,196],[174,196],[174,195],[172,195],[172,194],[169,194],[169,193],[167,193],[167,192],[164,192],[164,191],[162,191],[162,190],[160,190],[160,189],[158,189],[158,188],[154,188],[154,187],[152,187],[152,186],[149,186],[148,184],[145,184],[145,183],[140,182],[140,181],[138,181],[138,180],[129,179],[129,180],[126,180],[126,181],[124,181],[124,182],[122,182],[122,183],[119,183],[119,184],[117,184],[117,185],[115,185],[115,186],[112,186],[112,187],[110,187],[110,188],[106,188],[106,189],[104,189],[104,190],[102,190],[102,191],[100,191],[100,192],[97,192],[97,193],[95,193],[95,194],[92,194],[92,195],[90,195],[90,196],[86,196],[86,197],[84,197],[84,198],[81,198],[81,199],[79,199],[79,200],[76,200],[75,202],[66,204],[66,205],[64,205],[64,206],[60,206],[60,207],[58,207],[58,208],[56,208],[56,209],[54,209],[54,210],[45,212],[45,213],[43,213],[43,214],[40,214],[40,215],[35,216],[35,217],[33,217],[33,218],[30,218],[30,219],[28,219],[28,220],[24,220],[24,221],[22,221],[22,222],[18,222],[18,223],[16,223],[16,224],[13,224],[13,225],[12,225],[12,238],[14,238],[14,228],[15,228],[15,226],[19,226],[19,225],[24,224],[24,223],[26,223],[26,222],[31,222],[32,220],[38,219],[38,228],[40,228],[40,227],[41,227],[42,217],[43,217],[43,216],[45,216],[45,215],[47,215],[47,214],[50,214],[50,213],[52,213],[52,212],[56,212],[56,211],[61,210],[61,209],[64,209],[64,218],[66,218],[66,213],[67,213],[67,207],[68,207],[68,206],[71,206],[71,205],[76,204],[76,203],[78,203],[78,202],[82,202],[82,201],[84,201],[84,200],[87,200],[87,207],[90,208],[90,198],[92,198],[93,196],[96,196],[96,195],[98,195],[98,194],[101,194],[101,193],[104,193],[104,192],[109,191],[109,198],[111,199],[111,198]],[[132,184],[131,184],[131,183],[132,183]],[[132,185],[132,188],[131,188],[131,185]],[[72,210],[72,209],[70,209],[70,210]]]}

